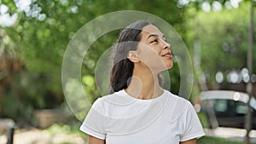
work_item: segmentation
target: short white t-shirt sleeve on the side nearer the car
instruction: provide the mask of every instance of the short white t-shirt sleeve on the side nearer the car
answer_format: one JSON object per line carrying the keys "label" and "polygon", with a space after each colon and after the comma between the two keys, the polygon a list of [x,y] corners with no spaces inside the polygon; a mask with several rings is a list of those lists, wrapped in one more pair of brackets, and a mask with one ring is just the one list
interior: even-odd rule
{"label": "short white t-shirt sleeve on the side nearer the car", "polygon": [[201,122],[195,112],[195,108],[188,101],[185,111],[183,135],[181,135],[180,141],[189,141],[194,138],[200,138],[205,135],[205,132],[201,126]]}

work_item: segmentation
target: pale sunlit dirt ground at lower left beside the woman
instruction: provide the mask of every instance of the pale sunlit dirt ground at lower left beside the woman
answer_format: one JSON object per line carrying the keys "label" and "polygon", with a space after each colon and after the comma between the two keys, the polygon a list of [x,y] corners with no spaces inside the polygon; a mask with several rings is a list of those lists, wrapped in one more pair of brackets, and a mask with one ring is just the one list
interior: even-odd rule
{"label": "pale sunlit dirt ground at lower left beside the woman", "polygon": [[[5,135],[0,135],[0,144],[6,144]],[[54,134],[50,135],[44,130],[16,130],[14,144],[85,144],[79,135]]]}

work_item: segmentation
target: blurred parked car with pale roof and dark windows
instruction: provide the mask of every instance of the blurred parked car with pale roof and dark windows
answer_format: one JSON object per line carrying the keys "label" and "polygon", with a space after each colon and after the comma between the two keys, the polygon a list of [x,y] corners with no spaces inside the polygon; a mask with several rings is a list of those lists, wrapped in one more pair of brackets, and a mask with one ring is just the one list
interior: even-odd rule
{"label": "blurred parked car with pale roof and dark windows", "polygon": [[252,129],[256,130],[256,101],[246,93],[230,90],[203,91],[200,95],[201,110],[212,128],[245,128],[247,102],[252,107]]}

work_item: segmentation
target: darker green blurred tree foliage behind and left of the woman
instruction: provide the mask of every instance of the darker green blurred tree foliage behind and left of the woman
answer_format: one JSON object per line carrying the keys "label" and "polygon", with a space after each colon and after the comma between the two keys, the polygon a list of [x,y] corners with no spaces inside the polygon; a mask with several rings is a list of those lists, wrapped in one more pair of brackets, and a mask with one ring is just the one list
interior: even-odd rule
{"label": "darker green blurred tree foliage behind and left of the woman", "polygon": [[[28,9],[23,11],[18,2],[0,1],[9,7],[9,14],[18,14],[14,26],[1,27],[1,41],[6,37],[9,40],[1,43],[0,49],[6,52],[11,50],[12,54],[1,54],[1,61],[8,60],[10,68],[1,67],[1,71],[5,69],[8,74],[0,79],[0,117],[15,118],[19,122],[23,119],[22,124],[32,123],[34,109],[59,107],[65,101],[61,88],[62,58],[67,44],[86,22],[109,12],[135,9],[160,16],[182,36],[186,32],[183,28],[185,9],[177,8],[175,0],[150,3],[144,0],[37,0],[32,1]],[[84,92],[90,95],[90,101],[101,96],[94,82],[97,59],[115,42],[118,32],[110,32],[99,38],[91,46],[93,50],[84,56],[86,60],[81,78]],[[21,61],[16,71],[15,60]],[[178,93],[178,66],[175,66],[172,73],[172,90]],[[78,105],[83,105],[83,101]]]}

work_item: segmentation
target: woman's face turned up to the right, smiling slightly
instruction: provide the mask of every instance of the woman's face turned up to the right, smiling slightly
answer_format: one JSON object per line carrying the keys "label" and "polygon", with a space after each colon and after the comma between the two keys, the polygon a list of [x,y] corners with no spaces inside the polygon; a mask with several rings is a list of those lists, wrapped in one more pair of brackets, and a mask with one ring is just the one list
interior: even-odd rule
{"label": "woman's face turned up to the right, smiling slightly", "polygon": [[166,37],[156,26],[144,26],[137,45],[137,57],[144,66],[154,72],[161,72],[172,68],[170,47],[171,44],[166,42]]}

